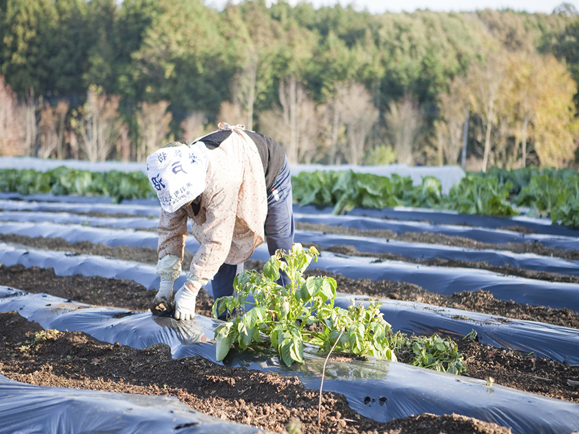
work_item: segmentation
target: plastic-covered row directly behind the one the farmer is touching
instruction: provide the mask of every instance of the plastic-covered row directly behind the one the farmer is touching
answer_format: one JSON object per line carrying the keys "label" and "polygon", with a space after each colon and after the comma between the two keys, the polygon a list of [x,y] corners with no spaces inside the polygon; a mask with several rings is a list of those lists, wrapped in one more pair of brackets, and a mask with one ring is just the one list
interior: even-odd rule
{"label": "plastic-covered row directly behind the one the farmer is touching", "polygon": [[[134,262],[112,260],[97,256],[67,256],[65,252],[27,249],[17,245],[0,244],[0,262],[6,266],[21,264],[25,267],[54,268],[58,276],[102,276],[134,280],[148,289],[157,288],[159,277],[154,265],[136,265]],[[175,287],[185,282],[184,273]],[[212,295],[211,282],[205,286]],[[341,294],[343,307],[350,298]],[[510,349],[529,349],[545,358],[558,362],[579,364],[579,331],[538,322],[509,320],[459,309],[436,308],[416,302],[382,300],[385,318],[395,330],[405,333],[443,333],[464,336],[472,329],[478,331],[480,342]],[[391,321],[392,319],[392,321]]]}

